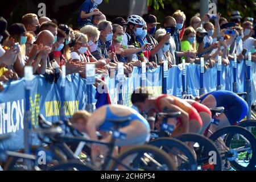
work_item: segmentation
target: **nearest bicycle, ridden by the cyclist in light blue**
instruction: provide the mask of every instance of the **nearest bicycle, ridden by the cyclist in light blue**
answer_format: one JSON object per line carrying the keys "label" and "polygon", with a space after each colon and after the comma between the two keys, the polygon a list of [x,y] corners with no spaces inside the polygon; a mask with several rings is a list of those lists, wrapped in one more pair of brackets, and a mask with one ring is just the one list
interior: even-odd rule
{"label": "nearest bicycle, ridden by the cyclist in light blue", "polygon": [[[101,144],[108,146],[109,151],[106,156],[100,156],[102,166],[100,169],[102,170],[111,170],[114,169],[117,166],[122,166],[123,168],[135,171],[135,170],[176,170],[172,160],[169,158],[168,154],[166,152],[159,150],[158,148],[154,146],[138,146],[138,147],[131,147],[129,150],[123,152],[123,154],[117,156],[117,158],[114,158],[112,156],[113,150],[114,150],[114,143],[116,138],[118,138],[118,135],[120,136],[121,133],[117,131],[119,128],[119,125],[122,122],[126,122],[130,118],[123,119],[122,121],[115,121],[115,120],[109,120],[110,122],[114,123],[114,129],[112,130],[112,140],[109,143],[106,142],[100,142],[98,140],[88,140],[83,137],[69,137],[69,136],[62,136],[60,134],[57,135],[48,135],[48,138],[52,140],[51,150],[57,149],[61,151],[60,155],[64,155],[63,158],[67,158],[67,161],[60,162],[59,164],[56,164],[53,167],[48,168],[49,171],[52,170],[96,170],[92,168],[88,163],[81,162],[75,154],[70,150],[70,148],[65,144],[65,142],[85,142],[85,143],[94,143],[94,144]],[[50,125],[49,122],[43,121],[43,119],[39,119],[39,123],[41,126],[43,125]],[[43,124],[43,125],[42,125]],[[122,163],[122,160],[125,160],[128,156],[133,155],[139,156],[139,158],[143,161],[143,163],[140,163],[137,165],[137,168],[130,167],[129,164]],[[146,163],[145,163],[146,162]],[[131,165],[132,166],[132,165]]]}

